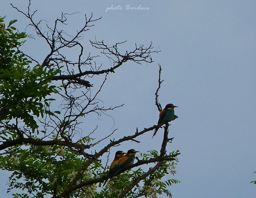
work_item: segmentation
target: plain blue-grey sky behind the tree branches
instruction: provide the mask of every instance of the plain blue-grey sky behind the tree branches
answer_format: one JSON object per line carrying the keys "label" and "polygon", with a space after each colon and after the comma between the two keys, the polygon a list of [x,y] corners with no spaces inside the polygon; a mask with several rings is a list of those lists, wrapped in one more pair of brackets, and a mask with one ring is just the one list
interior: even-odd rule
{"label": "plain blue-grey sky behind the tree branches", "polygon": [[[6,23],[18,19],[15,26],[35,36],[23,50],[42,62],[49,48],[10,3],[26,11],[28,1],[0,0],[0,15],[6,15]],[[119,9],[107,10],[112,5]],[[149,9],[131,10],[126,5]],[[89,45],[95,38],[110,46],[127,40],[120,47],[124,52],[133,50],[135,43],[150,42],[161,50],[152,55],[151,64],[127,62],[109,75],[100,99],[104,106],[124,106],[109,113],[115,123],[109,116],[95,115],[84,121],[86,128],[96,123],[104,133],[117,128],[114,137],[120,138],[134,134],[137,127],[155,125],[160,64],[164,82],[159,102],[179,106],[179,119],[171,122],[169,133],[175,139],[167,147],[181,153],[172,177],[181,183],[168,188],[173,198],[255,197],[256,185],[250,182],[256,180],[256,1],[32,0],[31,9],[37,10],[35,20],[50,24],[61,12],[77,12],[68,18],[68,31],[83,26],[84,14],[102,17],[84,34],[86,52],[98,52]],[[110,66],[107,59],[99,61]],[[126,142],[114,149],[160,150],[163,129],[154,139],[152,135],[153,131],[139,137],[140,144]],[[6,194],[9,175],[1,172],[0,194],[6,198],[12,197]]]}

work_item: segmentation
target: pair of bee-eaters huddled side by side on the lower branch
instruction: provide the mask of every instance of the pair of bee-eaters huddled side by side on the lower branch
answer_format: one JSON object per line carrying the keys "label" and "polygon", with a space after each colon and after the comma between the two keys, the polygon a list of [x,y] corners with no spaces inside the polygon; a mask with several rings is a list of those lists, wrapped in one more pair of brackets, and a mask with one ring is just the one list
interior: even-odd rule
{"label": "pair of bee-eaters huddled side by side on the lower branch", "polygon": [[107,183],[108,179],[118,175],[120,172],[125,170],[128,166],[132,165],[134,163],[135,155],[137,152],[140,152],[140,151],[136,151],[134,149],[128,150],[127,153],[124,153],[122,150],[116,151],[115,158],[111,163],[108,171],[108,177],[104,182],[103,186]]}

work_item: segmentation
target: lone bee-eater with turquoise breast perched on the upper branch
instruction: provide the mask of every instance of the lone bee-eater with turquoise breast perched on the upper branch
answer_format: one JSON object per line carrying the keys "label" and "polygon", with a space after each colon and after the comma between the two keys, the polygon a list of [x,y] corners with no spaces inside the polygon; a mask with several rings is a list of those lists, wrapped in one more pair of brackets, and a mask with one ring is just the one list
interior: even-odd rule
{"label": "lone bee-eater with turquoise breast perched on the upper branch", "polygon": [[[174,106],[173,104],[168,104],[165,106],[165,108],[162,111],[160,111],[157,125],[163,125],[164,123],[170,122],[174,119],[174,107],[178,107],[178,106]],[[159,127],[155,129],[155,133],[153,137],[156,135],[156,132],[158,131],[158,129]]]}

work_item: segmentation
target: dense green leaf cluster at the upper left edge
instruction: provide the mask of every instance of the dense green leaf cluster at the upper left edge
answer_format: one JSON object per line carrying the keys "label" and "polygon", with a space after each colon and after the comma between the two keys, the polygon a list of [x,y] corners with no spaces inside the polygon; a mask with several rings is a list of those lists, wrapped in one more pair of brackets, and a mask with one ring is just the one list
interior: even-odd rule
{"label": "dense green leaf cluster at the upper left edge", "polygon": [[44,103],[48,105],[49,99],[45,97],[58,92],[50,80],[59,70],[29,66],[32,62],[18,50],[25,42],[20,40],[27,35],[11,26],[16,21],[10,21],[5,29],[5,24],[1,23],[3,18],[0,18],[0,119],[20,118],[34,132],[38,128],[34,116],[44,117],[47,113]]}

